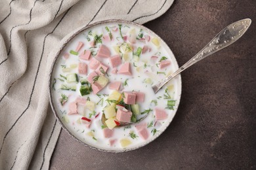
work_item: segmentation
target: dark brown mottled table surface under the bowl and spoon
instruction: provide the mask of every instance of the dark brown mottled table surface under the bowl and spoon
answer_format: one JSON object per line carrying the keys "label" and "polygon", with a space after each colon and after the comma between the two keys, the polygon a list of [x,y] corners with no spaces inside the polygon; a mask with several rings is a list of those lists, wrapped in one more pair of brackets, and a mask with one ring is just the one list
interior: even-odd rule
{"label": "dark brown mottled table surface under the bowl and spoon", "polygon": [[182,73],[179,109],[158,139],[114,154],[91,150],[62,130],[50,169],[256,169],[256,1],[175,0],[144,25],[182,65],[243,18],[253,20],[244,37]]}

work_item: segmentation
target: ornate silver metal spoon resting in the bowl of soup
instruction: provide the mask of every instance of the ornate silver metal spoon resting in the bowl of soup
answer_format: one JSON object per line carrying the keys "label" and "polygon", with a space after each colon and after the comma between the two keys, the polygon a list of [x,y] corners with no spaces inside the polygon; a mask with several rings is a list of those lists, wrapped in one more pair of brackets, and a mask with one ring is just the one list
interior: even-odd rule
{"label": "ornate silver metal spoon resting in the bowl of soup", "polygon": [[198,61],[226,48],[230,44],[236,42],[242,35],[244,35],[245,31],[247,31],[249,25],[251,25],[251,19],[247,18],[244,20],[240,20],[238,22],[234,22],[227,27],[225,27],[220,33],[218,33],[198,54],[196,54],[193,58],[191,58],[188,62],[182,65],[175,73],[167,76],[165,79],[158,82],[158,84],[152,86],[154,93],[157,93],[169,80],[173,77],[179,75],[182,71],[194,65]]}

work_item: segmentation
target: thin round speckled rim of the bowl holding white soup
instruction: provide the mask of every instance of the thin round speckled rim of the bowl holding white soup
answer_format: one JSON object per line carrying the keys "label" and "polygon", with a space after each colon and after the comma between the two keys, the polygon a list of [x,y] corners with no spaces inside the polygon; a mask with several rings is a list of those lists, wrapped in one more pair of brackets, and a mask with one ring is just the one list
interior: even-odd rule
{"label": "thin round speckled rim of the bowl holding white soup", "polygon": [[[151,143],[152,141],[156,140],[162,133],[163,131],[165,131],[167,129],[167,127],[169,127],[169,125],[171,124],[171,122],[173,121],[173,118],[175,117],[176,113],[177,113],[177,110],[179,109],[179,103],[181,101],[181,93],[182,93],[182,81],[181,81],[181,74],[180,75],[177,75],[176,77],[178,78],[178,81],[179,81],[179,84],[181,84],[180,88],[179,88],[179,99],[177,99],[177,109],[175,110],[174,112],[174,116],[173,118],[170,120],[169,124],[162,130],[160,131],[154,138],[152,138],[151,140],[148,140],[148,141],[145,141],[145,143],[139,145],[139,146],[135,146],[133,148],[124,148],[122,150],[107,150],[107,149],[104,149],[104,148],[97,148],[96,146],[92,146],[90,144],[87,144],[83,141],[81,141],[80,139],[78,139],[77,137],[75,137],[75,135],[73,133],[71,133],[68,128],[66,128],[66,126],[64,126],[64,124],[62,123],[62,121],[60,120],[60,117],[58,116],[58,113],[56,112],[56,109],[54,107],[54,102],[53,102],[53,96],[52,96],[52,78],[53,78],[53,71],[54,71],[54,66],[56,64],[56,61],[58,60],[58,57],[60,55],[60,53],[62,52],[62,50],[66,47],[66,45],[72,41],[72,39],[74,39],[74,37],[76,37],[77,35],[79,35],[82,31],[85,31],[86,29],[89,29],[90,27],[94,27],[96,25],[100,25],[100,24],[110,24],[110,23],[123,23],[123,24],[131,24],[131,25],[135,25],[137,27],[141,27],[142,29],[145,29],[146,31],[148,31],[150,34],[154,35],[155,37],[158,37],[158,39],[160,39],[160,41],[165,44],[165,46],[168,47],[167,50],[169,50],[172,54],[172,50],[171,48],[169,48],[169,46],[166,44],[165,41],[163,41],[163,39],[161,39],[161,37],[159,37],[156,33],[154,33],[154,31],[152,31],[151,29],[145,27],[144,25],[140,25],[140,24],[137,24],[136,22],[131,22],[131,21],[127,21],[127,20],[102,20],[102,21],[99,21],[99,22],[95,22],[93,24],[89,24],[89,25],[83,25],[81,27],[79,27],[78,29],[75,29],[74,33],[72,32],[71,35],[68,34],[66,35],[66,37],[68,37],[67,39],[62,39],[62,41],[60,41],[61,43],[61,46],[59,47],[58,46],[58,52],[56,54],[54,54],[54,59],[53,59],[53,63],[51,64],[51,68],[50,68],[50,73],[49,73],[49,79],[48,79],[48,92],[49,92],[49,98],[50,98],[50,104],[51,104],[51,108],[54,112],[54,116],[56,117],[56,120],[58,121],[58,123],[60,124],[60,126],[68,133],[68,135],[72,136],[75,141],[91,148],[91,149],[94,149],[94,150],[98,150],[100,152],[112,152],[112,153],[119,153],[119,152],[128,152],[128,151],[131,151],[131,150],[136,150],[138,148],[142,148],[143,146],[146,146],[146,144],[149,144]],[[175,62],[175,65],[178,65],[177,63],[177,59],[175,58],[175,55],[173,54],[174,56],[174,60],[173,62]]]}

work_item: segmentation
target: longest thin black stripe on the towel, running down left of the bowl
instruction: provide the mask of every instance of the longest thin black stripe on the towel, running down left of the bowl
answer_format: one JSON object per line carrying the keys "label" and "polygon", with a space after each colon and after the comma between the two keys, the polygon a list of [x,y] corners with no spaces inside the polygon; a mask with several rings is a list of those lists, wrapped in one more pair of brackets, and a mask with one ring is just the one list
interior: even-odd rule
{"label": "longest thin black stripe on the towel, running down left of the bowl", "polygon": [[[71,9],[71,8],[72,8],[72,7],[70,7],[70,9]],[[60,21],[58,22],[58,24],[54,27],[53,31],[51,31],[51,33],[48,33],[48,34],[45,36],[45,39],[55,31],[56,27],[58,27],[58,25],[60,24],[60,22],[62,22],[63,18],[66,16],[66,14],[68,14],[68,11],[69,11],[70,9],[68,9],[68,10],[65,12],[65,14],[62,16],[62,18],[61,18]],[[43,51],[45,50],[45,39],[43,40]],[[38,65],[38,67],[37,67],[37,73],[36,73],[36,75],[35,75],[35,80],[34,80],[34,82],[33,82],[33,88],[32,88],[32,92],[31,92],[31,94],[30,94],[30,101],[28,102],[28,106],[27,106],[26,109],[22,112],[22,114],[20,114],[20,116],[16,119],[16,121],[14,122],[14,124],[11,126],[11,128],[10,128],[10,129],[7,131],[7,133],[5,134],[5,137],[3,138],[3,142],[2,142],[2,145],[1,145],[1,148],[0,148],[0,154],[1,154],[1,151],[2,151],[2,148],[3,148],[3,144],[5,143],[5,139],[6,139],[7,135],[10,133],[11,129],[16,125],[16,123],[18,122],[18,120],[20,120],[20,118],[21,118],[22,115],[26,112],[26,110],[28,110],[28,108],[30,107],[30,103],[31,103],[32,95],[33,95],[33,90],[35,89],[35,82],[36,82],[36,80],[37,80],[37,75],[38,75],[38,72],[39,72],[39,67],[40,67],[40,65],[41,65],[41,60],[42,60],[42,58],[43,58],[43,52],[42,52],[42,54],[41,54],[41,58],[40,58],[40,61],[39,61],[39,65]]]}

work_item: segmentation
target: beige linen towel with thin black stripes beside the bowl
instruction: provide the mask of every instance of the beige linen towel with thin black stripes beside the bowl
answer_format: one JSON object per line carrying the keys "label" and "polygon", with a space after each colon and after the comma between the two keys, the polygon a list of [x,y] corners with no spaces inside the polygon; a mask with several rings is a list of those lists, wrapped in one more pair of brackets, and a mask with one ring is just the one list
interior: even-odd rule
{"label": "beige linen towel with thin black stripes beside the bowl", "polygon": [[49,169],[60,125],[48,76],[60,40],[84,25],[144,24],[173,0],[3,0],[0,2],[0,169]]}

